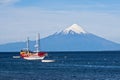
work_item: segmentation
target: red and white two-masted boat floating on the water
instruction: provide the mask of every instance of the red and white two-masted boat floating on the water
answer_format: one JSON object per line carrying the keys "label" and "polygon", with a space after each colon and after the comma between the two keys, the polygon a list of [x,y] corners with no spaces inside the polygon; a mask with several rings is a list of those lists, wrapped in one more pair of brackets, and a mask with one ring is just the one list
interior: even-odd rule
{"label": "red and white two-masted boat floating on the water", "polygon": [[27,38],[27,48],[20,51],[20,56],[23,59],[26,59],[26,60],[42,60],[42,59],[44,59],[45,56],[47,56],[47,53],[39,51],[39,48],[40,48],[40,34],[38,34],[38,37],[36,39],[35,47],[36,47],[35,52],[32,52],[32,51],[29,50],[29,38]]}

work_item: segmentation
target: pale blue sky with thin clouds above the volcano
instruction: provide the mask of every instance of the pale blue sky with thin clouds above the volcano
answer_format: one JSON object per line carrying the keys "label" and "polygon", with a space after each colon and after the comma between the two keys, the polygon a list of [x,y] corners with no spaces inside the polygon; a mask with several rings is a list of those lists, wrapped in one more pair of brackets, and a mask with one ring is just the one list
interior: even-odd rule
{"label": "pale blue sky with thin clouds above the volcano", "polygon": [[35,39],[72,24],[120,43],[120,0],[0,0],[0,44]]}

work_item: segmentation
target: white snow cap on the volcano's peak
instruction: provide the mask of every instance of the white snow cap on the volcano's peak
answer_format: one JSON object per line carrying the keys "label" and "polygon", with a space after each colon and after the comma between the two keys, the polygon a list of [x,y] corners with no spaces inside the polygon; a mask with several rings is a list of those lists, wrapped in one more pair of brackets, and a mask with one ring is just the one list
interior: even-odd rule
{"label": "white snow cap on the volcano's peak", "polygon": [[68,34],[68,33],[77,33],[77,34],[81,34],[81,33],[87,33],[84,29],[82,29],[81,26],[77,25],[77,24],[73,24],[72,26],[66,28],[65,30],[62,31],[64,34]]}

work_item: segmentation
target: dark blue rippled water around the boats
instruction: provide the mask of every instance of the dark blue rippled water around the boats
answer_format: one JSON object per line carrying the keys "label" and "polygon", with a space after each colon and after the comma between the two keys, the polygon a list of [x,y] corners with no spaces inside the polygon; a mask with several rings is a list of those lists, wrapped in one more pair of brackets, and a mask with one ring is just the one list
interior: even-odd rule
{"label": "dark blue rippled water around the boats", "polygon": [[120,80],[120,52],[49,52],[40,60],[15,59],[0,53],[0,80]]}

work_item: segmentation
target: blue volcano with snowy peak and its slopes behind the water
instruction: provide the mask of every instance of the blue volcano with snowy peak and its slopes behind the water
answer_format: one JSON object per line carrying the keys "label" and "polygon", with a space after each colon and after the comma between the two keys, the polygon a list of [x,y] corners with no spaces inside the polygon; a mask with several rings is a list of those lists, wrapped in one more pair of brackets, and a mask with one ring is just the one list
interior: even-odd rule
{"label": "blue volcano with snowy peak and its slopes behind the water", "polygon": [[[30,41],[30,48],[34,50],[35,41]],[[26,47],[25,42],[0,45],[0,51],[20,51]],[[111,51],[120,50],[120,44],[106,40],[86,32],[77,24],[56,32],[40,40],[42,51]]]}

